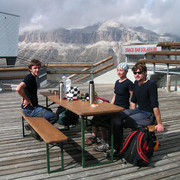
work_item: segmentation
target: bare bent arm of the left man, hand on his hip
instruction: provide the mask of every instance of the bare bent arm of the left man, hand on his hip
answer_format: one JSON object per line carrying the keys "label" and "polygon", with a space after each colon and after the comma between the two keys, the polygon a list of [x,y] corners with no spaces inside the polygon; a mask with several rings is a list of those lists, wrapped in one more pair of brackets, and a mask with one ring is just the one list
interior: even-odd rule
{"label": "bare bent arm of the left man, hand on his hip", "polygon": [[17,88],[16,91],[19,93],[19,95],[24,98],[24,102],[23,102],[23,106],[26,107],[28,104],[30,104],[32,106],[31,101],[29,100],[29,98],[26,96],[25,92],[24,92],[24,88],[26,87],[26,84],[24,82],[21,82]]}

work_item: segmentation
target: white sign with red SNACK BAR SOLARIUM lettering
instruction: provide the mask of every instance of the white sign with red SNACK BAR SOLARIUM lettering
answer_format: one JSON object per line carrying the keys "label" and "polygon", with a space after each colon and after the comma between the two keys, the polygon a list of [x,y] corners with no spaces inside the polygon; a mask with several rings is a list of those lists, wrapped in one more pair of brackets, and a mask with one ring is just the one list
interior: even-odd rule
{"label": "white sign with red SNACK BAR SOLARIUM lettering", "polygon": [[145,54],[149,51],[161,51],[161,47],[157,47],[157,44],[147,44],[147,45],[133,45],[133,46],[123,46],[123,54]]}

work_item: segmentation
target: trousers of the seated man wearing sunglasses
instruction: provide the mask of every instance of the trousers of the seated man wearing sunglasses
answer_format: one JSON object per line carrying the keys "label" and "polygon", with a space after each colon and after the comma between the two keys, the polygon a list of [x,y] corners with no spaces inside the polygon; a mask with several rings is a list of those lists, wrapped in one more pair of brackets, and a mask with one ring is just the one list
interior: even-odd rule
{"label": "trousers of the seated man wearing sunglasses", "polygon": [[155,123],[153,113],[136,109],[119,112],[113,120],[114,148],[120,150],[123,142],[123,128],[137,129]]}

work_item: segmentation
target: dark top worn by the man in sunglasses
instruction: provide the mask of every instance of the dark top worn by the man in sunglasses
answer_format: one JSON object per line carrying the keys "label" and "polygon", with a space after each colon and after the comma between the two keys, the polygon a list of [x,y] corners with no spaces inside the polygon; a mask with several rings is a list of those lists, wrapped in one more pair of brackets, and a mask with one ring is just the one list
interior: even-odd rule
{"label": "dark top worn by the man in sunglasses", "polygon": [[154,81],[148,80],[140,86],[135,81],[131,102],[138,104],[140,110],[153,113],[153,108],[159,106],[157,86]]}

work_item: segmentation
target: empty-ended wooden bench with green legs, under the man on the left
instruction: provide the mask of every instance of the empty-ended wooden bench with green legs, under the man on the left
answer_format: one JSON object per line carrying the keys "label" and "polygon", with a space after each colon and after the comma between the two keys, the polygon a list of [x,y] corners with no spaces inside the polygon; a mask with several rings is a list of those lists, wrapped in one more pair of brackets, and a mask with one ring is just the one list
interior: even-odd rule
{"label": "empty-ended wooden bench with green legs, under the man on the left", "polygon": [[[19,112],[22,115],[23,137],[27,136],[25,134],[25,128],[24,128],[25,127],[24,122],[26,120],[46,143],[47,172],[52,173],[52,172],[64,170],[63,142],[66,141],[68,137],[43,117],[29,117],[29,116],[25,116],[22,110],[19,110]],[[54,146],[58,146],[61,149],[61,168],[51,171],[49,150]]]}

